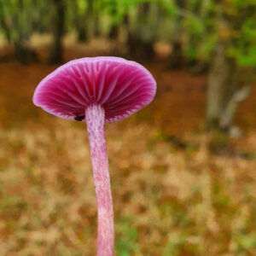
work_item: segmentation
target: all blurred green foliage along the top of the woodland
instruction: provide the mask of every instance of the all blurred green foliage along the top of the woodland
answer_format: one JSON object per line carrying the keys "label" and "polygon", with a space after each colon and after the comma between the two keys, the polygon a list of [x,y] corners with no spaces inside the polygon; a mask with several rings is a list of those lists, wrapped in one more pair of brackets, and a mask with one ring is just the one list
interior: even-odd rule
{"label": "all blurred green foliage along the top of the woodland", "polygon": [[[254,0],[95,0],[91,11],[87,0],[63,1],[67,7],[68,31],[81,26],[85,29],[88,23],[93,22],[86,15],[98,15],[104,23],[102,26],[108,31],[106,26],[121,23],[125,15],[130,18],[137,16],[141,3],[155,3],[162,14],[161,24],[168,27],[158,26],[152,30],[157,31],[158,35],[161,34],[160,30],[169,31],[170,34],[177,30],[178,35],[182,33],[183,55],[189,60],[208,60],[218,40],[227,39],[230,41],[228,55],[236,58],[242,67],[256,66]],[[50,0],[0,0],[0,33],[15,44],[28,39],[33,32],[49,32],[52,26],[51,4]],[[135,23],[132,26],[140,26],[142,17],[131,20]],[[149,26],[152,21],[151,17],[143,20],[150,23]],[[177,34],[174,32],[172,40],[180,37]]]}

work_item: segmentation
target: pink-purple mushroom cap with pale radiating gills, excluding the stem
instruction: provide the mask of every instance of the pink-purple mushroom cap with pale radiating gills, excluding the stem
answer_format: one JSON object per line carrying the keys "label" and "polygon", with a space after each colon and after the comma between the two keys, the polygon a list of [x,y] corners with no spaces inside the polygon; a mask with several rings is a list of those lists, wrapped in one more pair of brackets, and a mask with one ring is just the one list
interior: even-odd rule
{"label": "pink-purple mushroom cap with pale radiating gills, excluding the stem", "polygon": [[145,107],[156,83],[146,68],[119,57],[87,57],[57,68],[34,92],[33,102],[64,119],[85,120],[92,104],[105,110],[105,123],[125,119]]}

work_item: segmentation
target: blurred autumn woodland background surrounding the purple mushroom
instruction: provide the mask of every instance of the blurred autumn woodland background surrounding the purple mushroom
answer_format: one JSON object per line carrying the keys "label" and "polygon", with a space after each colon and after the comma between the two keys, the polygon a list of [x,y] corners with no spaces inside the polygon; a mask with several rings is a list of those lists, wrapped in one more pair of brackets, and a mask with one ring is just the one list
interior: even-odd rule
{"label": "blurred autumn woodland background surrounding the purple mushroom", "polygon": [[106,125],[116,255],[256,255],[254,0],[0,0],[0,255],[96,255],[86,125],[32,104],[96,55],[158,84]]}

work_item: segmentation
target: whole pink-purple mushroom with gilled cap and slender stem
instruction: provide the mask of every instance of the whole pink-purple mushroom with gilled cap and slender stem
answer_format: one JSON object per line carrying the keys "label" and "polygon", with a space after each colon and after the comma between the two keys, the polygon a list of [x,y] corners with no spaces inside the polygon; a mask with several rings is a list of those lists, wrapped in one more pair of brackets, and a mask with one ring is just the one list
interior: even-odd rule
{"label": "whole pink-purple mushroom with gilled cap and slender stem", "polygon": [[155,90],[155,80],[145,67],[106,56],[69,61],[44,78],[34,92],[34,104],[46,112],[87,123],[98,211],[98,256],[114,254],[104,124],[125,119],[145,107]]}

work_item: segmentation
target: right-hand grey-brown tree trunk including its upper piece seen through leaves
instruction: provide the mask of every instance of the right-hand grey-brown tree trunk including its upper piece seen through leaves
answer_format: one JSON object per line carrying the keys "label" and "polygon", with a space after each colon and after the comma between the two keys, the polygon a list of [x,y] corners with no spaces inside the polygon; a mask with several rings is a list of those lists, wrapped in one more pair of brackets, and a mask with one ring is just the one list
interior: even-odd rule
{"label": "right-hand grey-brown tree trunk including its upper piece seen through leaves", "polygon": [[[247,9],[250,12],[250,9]],[[224,31],[241,30],[247,19],[247,12],[241,13],[236,19],[224,9],[216,15],[218,26]],[[230,131],[236,108],[239,102],[247,98],[249,86],[241,84],[241,74],[235,57],[228,55],[230,47],[236,45],[236,38],[229,34],[220,35],[212,52],[212,62],[208,77],[207,89],[207,125],[221,131]]]}

